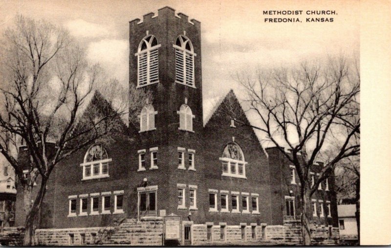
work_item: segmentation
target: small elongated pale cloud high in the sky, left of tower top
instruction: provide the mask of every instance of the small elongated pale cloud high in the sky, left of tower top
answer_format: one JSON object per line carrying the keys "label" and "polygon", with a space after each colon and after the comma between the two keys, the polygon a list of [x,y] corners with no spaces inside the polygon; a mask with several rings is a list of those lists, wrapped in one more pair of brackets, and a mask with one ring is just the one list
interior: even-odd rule
{"label": "small elongated pale cloud high in the sky, left of tower top", "polygon": [[71,35],[83,38],[108,37],[113,35],[113,31],[106,25],[88,23],[83,19],[71,20],[65,23]]}

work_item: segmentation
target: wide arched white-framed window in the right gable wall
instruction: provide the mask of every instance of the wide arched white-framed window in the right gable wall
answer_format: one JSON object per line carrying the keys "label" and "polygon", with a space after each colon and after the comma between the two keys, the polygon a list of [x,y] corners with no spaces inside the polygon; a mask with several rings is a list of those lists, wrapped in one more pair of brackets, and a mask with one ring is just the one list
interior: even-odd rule
{"label": "wide arched white-framed window in the right gable wall", "polygon": [[246,164],[243,151],[235,142],[228,143],[219,160],[222,163],[222,176],[246,179]]}

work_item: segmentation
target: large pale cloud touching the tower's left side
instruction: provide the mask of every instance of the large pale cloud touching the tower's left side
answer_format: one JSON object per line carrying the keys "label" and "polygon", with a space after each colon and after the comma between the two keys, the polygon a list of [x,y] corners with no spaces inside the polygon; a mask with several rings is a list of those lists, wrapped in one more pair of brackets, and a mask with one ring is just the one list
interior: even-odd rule
{"label": "large pale cloud touching the tower's left side", "polygon": [[99,63],[109,78],[117,78],[124,86],[129,78],[129,42],[128,40],[103,39],[91,42],[87,48],[87,57],[92,63]]}

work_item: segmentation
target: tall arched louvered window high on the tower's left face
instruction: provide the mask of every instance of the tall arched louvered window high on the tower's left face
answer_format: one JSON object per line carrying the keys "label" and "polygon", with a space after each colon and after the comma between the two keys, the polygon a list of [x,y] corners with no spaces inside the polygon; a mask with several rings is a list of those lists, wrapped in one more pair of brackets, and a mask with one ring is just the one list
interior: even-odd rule
{"label": "tall arched louvered window high on the tower's left face", "polygon": [[137,53],[138,87],[159,82],[159,50],[160,44],[153,35],[147,35],[140,42]]}

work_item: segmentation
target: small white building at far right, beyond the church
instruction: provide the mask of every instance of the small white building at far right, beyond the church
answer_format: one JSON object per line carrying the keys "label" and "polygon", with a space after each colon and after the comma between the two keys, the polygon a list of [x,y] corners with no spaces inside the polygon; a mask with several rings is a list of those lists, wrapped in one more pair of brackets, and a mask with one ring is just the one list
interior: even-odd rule
{"label": "small white building at far right, beyond the church", "polygon": [[356,205],[338,205],[338,224],[341,239],[357,239]]}

